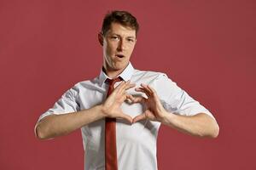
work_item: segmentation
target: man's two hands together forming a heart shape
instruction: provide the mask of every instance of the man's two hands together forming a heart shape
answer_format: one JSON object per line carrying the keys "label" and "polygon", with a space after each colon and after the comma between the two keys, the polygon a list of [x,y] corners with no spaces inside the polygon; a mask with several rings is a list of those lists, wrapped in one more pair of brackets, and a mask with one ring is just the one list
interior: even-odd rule
{"label": "man's two hands together forming a heart shape", "polygon": [[[113,93],[108,96],[108,99],[106,99],[106,101],[102,104],[103,114],[107,117],[125,119],[131,124],[144,119],[163,122],[167,112],[161,105],[160,99],[154,88],[151,88],[143,83],[141,84],[141,87],[135,88],[135,91],[146,94],[147,97],[145,98],[143,96],[135,97],[126,93],[126,90],[134,87],[135,84],[131,83],[130,81],[121,82],[119,86],[113,90]],[[145,105],[145,111],[143,111],[141,115],[135,116],[134,118],[126,115],[123,111],[121,111],[120,108],[120,105],[122,105],[126,99],[130,100],[131,104],[141,103]]]}

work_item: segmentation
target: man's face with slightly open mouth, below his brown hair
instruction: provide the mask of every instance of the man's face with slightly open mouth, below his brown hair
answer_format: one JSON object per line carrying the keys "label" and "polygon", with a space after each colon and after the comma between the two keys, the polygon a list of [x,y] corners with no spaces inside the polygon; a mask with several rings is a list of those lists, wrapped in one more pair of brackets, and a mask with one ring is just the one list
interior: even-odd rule
{"label": "man's face with slightly open mouth, below his brown hair", "polygon": [[105,36],[100,35],[103,46],[103,66],[107,71],[122,71],[129,64],[136,44],[136,31],[119,23],[112,23]]}

